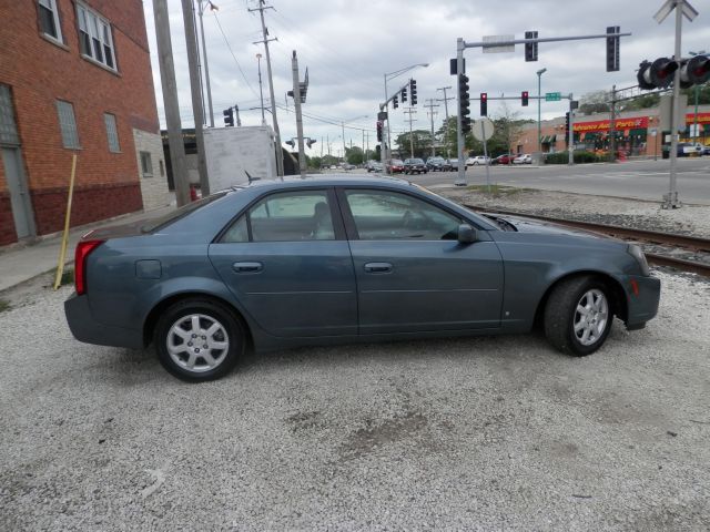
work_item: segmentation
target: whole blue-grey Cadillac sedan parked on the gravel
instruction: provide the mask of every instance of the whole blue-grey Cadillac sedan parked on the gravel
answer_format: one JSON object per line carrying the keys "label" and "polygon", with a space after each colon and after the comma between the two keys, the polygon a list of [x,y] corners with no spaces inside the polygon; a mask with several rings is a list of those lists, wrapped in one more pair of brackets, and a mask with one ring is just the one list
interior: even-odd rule
{"label": "whole blue-grey Cadillac sedan parked on the gravel", "polygon": [[247,348],[527,332],[572,356],[613,317],[640,329],[660,282],[636,245],[481,216],[388,177],[261,181],[148,225],[87,234],[64,304],[81,341],[142,348],[185,380]]}

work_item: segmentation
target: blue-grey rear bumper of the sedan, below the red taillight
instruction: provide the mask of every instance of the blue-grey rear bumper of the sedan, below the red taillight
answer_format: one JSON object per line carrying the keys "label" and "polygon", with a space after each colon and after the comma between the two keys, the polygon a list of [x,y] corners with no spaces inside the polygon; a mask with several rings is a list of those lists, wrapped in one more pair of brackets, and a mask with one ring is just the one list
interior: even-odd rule
{"label": "blue-grey rear bumper of the sedan, below the red taillight", "polygon": [[143,331],[112,327],[98,323],[91,314],[89,298],[72,296],[64,301],[64,315],[67,323],[79,341],[98,346],[130,347],[141,349],[143,347]]}

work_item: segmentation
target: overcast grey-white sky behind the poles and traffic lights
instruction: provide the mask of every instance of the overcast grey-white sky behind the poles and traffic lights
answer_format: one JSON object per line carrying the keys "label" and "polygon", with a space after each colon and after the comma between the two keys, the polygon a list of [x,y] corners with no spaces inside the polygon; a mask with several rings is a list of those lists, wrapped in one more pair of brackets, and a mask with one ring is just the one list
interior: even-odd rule
{"label": "overcast grey-white sky behind the poles and traffic lights", "polygon": [[[710,51],[710,0],[691,0],[700,12],[693,22],[683,19],[682,53]],[[237,104],[243,125],[261,124],[260,86],[256,54],[263,54],[256,0],[214,0],[219,11],[205,9],[204,32],[209,55],[210,80],[215,126],[223,125],[222,111]],[[604,39],[540,43],[537,62],[526,62],[524,47],[514,53],[481,53],[480,49],[465,52],[466,71],[470,78],[470,94],[487,92],[489,98],[505,94],[519,96],[520,91],[537,94],[537,74],[542,68],[542,93],[571,92],[575,98],[590,91],[610,90],[637,84],[636,70],[643,59],[653,60],[673,53],[674,16],[661,24],[653,14],[662,0],[272,0],[274,9],[265,11],[274,76],[274,94],[282,140],[296,135],[293,100],[285,93],[293,88],[292,51],[296,50],[303,72],[308,68],[310,86],[303,112],[304,135],[317,140],[310,155],[321,154],[321,142],[329,136],[332,152],[342,151],[339,124],[345,122],[345,141],[362,145],[362,130],[369,132],[369,146],[375,144],[375,121],[378,103],[384,101],[384,74],[416,63],[429,63],[388,82],[396,91],[409,76],[417,80],[418,105],[414,129],[430,126],[429,99],[443,98],[437,88],[456,88],[449,75],[449,58],[456,57],[456,40],[477,42],[484,35],[515,35],[537,30],[540,38],[590,35],[606,32],[607,25],[619,25],[632,35],[621,39],[621,70],[606,72]],[[183,127],[192,126],[190,78],[185,53],[183,18],[180,0],[169,0],[175,74]],[[145,23],[151,47],[153,81],[164,127],[163,99],[156,59],[155,27],[152,0],[144,0]],[[220,29],[221,25],[221,29]],[[270,105],[268,79],[262,58],[265,105]],[[447,91],[455,96],[455,91]],[[434,111],[435,129],[444,120],[443,102]],[[510,112],[537,120],[537,104],[520,106],[508,102]],[[565,113],[567,102],[542,102],[542,117]],[[393,134],[408,131],[407,114],[398,110],[389,113]],[[490,101],[488,114],[501,110]],[[449,102],[449,114],[456,114],[456,102]],[[471,102],[471,114],[478,115],[478,103]],[[366,116],[366,117],[364,117]],[[320,120],[315,120],[315,119]],[[271,124],[271,115],[266,113]],[[325,121],[325,122],[324,122]],[[347,127],[347,126],[351,127]],[[324,147],[327,151],[327,146]]]}

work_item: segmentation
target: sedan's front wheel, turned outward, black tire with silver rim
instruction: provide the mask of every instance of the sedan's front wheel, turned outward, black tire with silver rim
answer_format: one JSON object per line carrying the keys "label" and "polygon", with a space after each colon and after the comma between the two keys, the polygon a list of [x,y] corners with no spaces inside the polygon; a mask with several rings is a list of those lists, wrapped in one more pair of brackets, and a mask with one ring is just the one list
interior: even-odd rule
{"label": "sedan's front wheel, turned outward, black tire with silver rim", "polygon": [[[560,282],[545,306],[545,336],[561,352],[575,357],[591,355],[604,345],[611,330],[612,300],[609,287],[595,277],[572,277]],[[591,306],[586,308],[589,314],[578,311],[580,306]]]}

